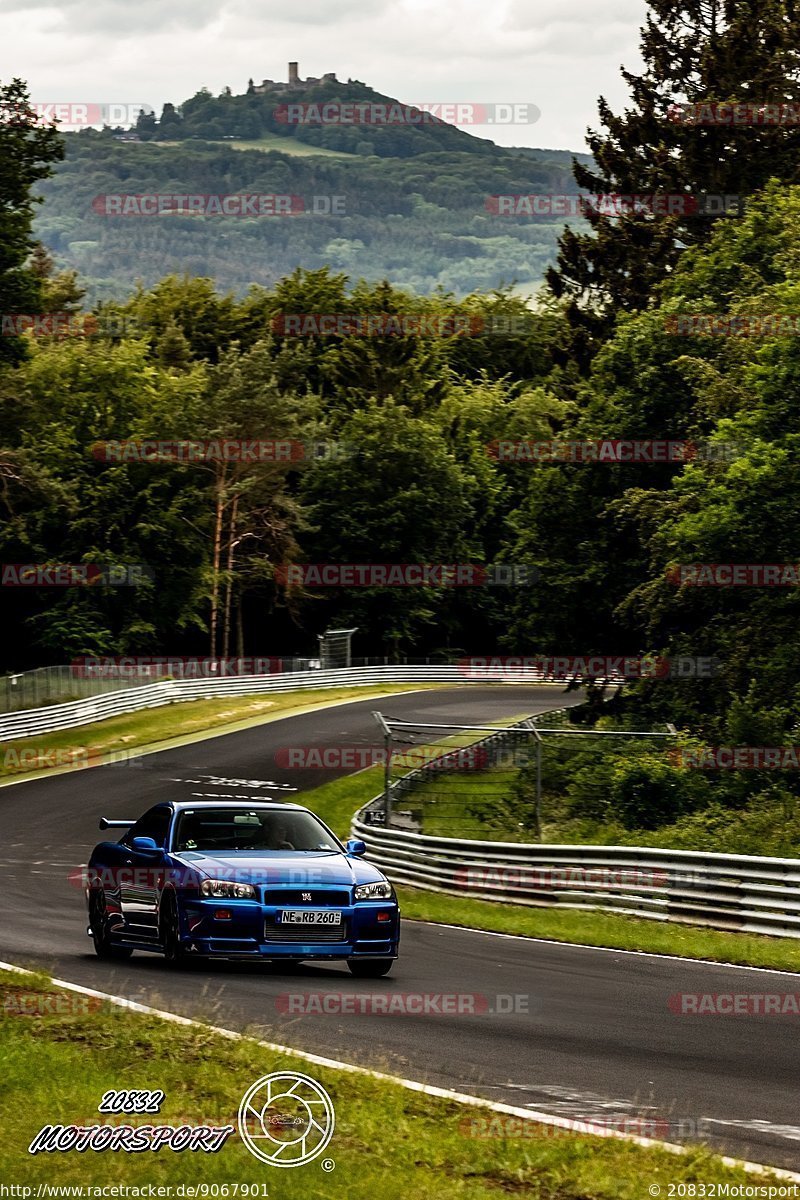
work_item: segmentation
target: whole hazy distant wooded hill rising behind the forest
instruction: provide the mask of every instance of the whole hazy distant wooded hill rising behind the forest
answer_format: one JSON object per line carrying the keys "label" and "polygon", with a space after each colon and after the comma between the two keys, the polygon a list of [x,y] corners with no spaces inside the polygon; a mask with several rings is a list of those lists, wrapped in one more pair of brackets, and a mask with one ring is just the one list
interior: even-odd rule
{"label": "whole hazy distant wooded hill rising behind the forest", "polygon": [[[149,287],[170,272],[242,294],[323,265],[421,294],[506,283],[524,293],[541,283],[564,220],[501,217],[491,197],[575,193],[569,151],[509,150],[434,118],[290,125],[278,119],[287,97],[397,102],[331,77],[255,86],[166,104],[160,118],[143,114],[136,133],[65,134],[65,162],[40,185],[36,234],[59,265],[79,271],[91,301],[121,299],[137,281]],[[114,204],[98,199],[231,193],[293,196],[294,215],[106,215]]]}

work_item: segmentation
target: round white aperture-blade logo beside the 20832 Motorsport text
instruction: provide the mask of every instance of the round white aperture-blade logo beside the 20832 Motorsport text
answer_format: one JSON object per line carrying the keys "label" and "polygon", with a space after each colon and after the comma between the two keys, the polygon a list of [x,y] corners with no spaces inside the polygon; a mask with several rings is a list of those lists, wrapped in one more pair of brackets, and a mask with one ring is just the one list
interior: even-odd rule
{"label": "round white aperture-blade logo beside the 20832 Motorsport text", "polygon": [[333,1103],[314,1079],[296,1070],[264,1075],[239,1105],[239,1134],[251,1154],[271,1166],[302,1166],[333,1136]]}

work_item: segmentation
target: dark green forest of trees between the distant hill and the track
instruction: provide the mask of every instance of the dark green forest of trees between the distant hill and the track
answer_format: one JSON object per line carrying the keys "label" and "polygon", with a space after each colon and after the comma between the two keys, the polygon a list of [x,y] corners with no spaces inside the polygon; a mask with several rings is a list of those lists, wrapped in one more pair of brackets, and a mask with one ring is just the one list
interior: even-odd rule
{"label": "dark green forest of trees between the distant hill and the track", "polygon": [[[359,626],[361,655],[700,655],[717,661],[712,678],[631,690],[638,722],[674,721],[716,744],[793,740],[798,587],[676,586],[674,570],[798,558],[798,126],[680,127],[676,136],[660,106],[668,94],[796,102],[799,34],[792,6],[772,0],[650,4],[631,107],[618,118],[601,104],[603,132],[590,143],[599,182],[613,192],[738,192],[745,211],[688,229],[654,214],[602,217],[591,236],[572,229],[535,307],[507,288],[420,295],[398,283],[399,272],[359,281],[347,264],[319,266],[309,256],[303,269],[236,294],[187,263],[185,274],[145,281],[97,308],[90,332],[1,338],[2,560],[121,560],[152,571],[139,588],[0,590],[2,666],[210,646],[308,653],[319,631],[342,625]],[[690,46],[691,54],[675,49]],[[734,60],[735,91],[726,73]],[[24,110],[20,92],[6,91],[6,106],[11,98]],[[25,198],[58,162],[58,138],[26,126],[24,112],[16,126],[0,126],[0,138],[16,152],[4,157],[0,196],[17,214],[0,311],[19,311],[25,296],[28,311],[78,313],[84,282],[36,248]],[[89,197],[106,187],[88,163],[92,155],[118,162],[119,146],[102,136],[79,142],[66,164],[72,174],[62,170],[48,188]],[[188,160],[170,156],[178,174]],[[300,161],[278,164],[295,190]],[[392,160],[385,166],[399,170]],[[326,188],[338,186],[333,175]],[[591,186],[581,166],[578,181]],[[473,180],[476,194],[486,182]],[[143,186],[126,180],[128,191]],[[439,176],[435,186],[449,185]],[[119,236],[136,260],[140,234]],[[449,313],[480,318],[482,332],[293,337],[275,319],[291,313]],[[735,336],[687,320],[710,314],[717,330],[728,318],[786,319],[729,323]],[[92,452],[109,439],[218,437],[335,442],[348,452],[308,464],[108,463]],[[728,449],[669,463],[505,462],[491,449],[549,439]],[[325,589],[287,587],[278,570],[453,562],[530,564],[539,578],[506,588]],[[676,786],[676,768],[637,770],[644,776],[626,776],[633,793],[644,778],[648,794],[657,784],[669,804],[700,803],[698,788]],[[728,773],[735,782],[721,785],[714,804],[780,808],[796,794],[790,773],[780,784],[775,773],[766,781],[744,774]]]}

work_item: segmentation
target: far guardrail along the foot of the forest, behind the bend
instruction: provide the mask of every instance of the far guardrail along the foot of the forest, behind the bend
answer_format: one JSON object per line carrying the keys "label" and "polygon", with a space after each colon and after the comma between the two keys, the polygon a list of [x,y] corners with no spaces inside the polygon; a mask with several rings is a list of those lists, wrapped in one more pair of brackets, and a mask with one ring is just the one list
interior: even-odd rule
{"label": "far guardrail along the foot of the forest, behind the bend", "polygon": [[[543,684],[564,689],[565,679],[553,679],[535,668],[525,668],[509,683]],[[621,680],[619,680],[621,682]],[[160,683],[128,688],[122,691],[76,700],[66,704],[49,704],[44,708],[0,715],[0,742],[34,737],[71,730],[91,721],[103,721],[124,713],[137,713],[145,708],[160,708],[190,700],[215,700],[217,697],[253,696],[263,692],[296,691],[307,688],[353,688],[384,683],[452,683],[481,684],[483,679],[465,678],[457,665],[341,667],[333,671],[294,671],[291,673],[263,676],[231,676],[227,679],[164,679]]]}

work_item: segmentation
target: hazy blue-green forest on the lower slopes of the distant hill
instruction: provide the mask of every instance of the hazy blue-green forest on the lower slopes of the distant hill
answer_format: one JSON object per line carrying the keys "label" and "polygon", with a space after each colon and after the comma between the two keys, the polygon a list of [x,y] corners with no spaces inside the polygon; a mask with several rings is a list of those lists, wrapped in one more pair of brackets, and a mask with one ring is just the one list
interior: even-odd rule
{"label": "hazy blue-green forest on the lower slopes of the distant hill", "polygon": [[[421,294],[512,282],[530,294],[555,258],[564,218],[498,216],[487,200],[573,193],[570,162],[547,151],[476,152],[483,143],[458,137],[468,149],[379,158],[303,157],[233,142],[137,144],[110,130],[67,133],[65,162],[38,187],[46,204],[35,232],[61,266],[79,271],[89,302],[122,299],[138,281],[152,286],[167,272],[207,276],[242,295],[299,265],[330,265],[373,283],[389,277]],[[92,206],[98,196],[175,192],[294,194],[308,210],[314,196],[341,197],[343,211],[134,218]]]}

